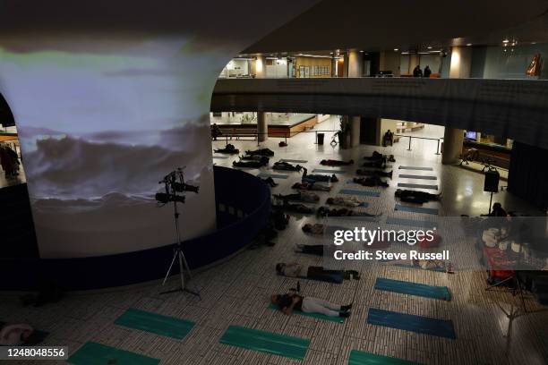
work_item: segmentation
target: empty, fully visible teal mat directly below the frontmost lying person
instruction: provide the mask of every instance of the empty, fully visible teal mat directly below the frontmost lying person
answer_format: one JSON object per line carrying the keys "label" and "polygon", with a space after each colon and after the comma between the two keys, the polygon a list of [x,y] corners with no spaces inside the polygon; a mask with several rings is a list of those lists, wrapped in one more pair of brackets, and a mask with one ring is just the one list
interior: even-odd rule
{"label": "empty, fully visible teal mat directly below the frontmost lying person", "polygon": [[310,340],[290,335],[273,334],[258,329],[230,326],[220,338],[219,343],[304,360]]}

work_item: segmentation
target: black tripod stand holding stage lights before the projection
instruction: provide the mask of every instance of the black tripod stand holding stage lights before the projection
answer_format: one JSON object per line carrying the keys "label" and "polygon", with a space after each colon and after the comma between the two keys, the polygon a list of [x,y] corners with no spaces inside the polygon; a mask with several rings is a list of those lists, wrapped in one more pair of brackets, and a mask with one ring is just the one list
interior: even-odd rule
{"label": "black tripod stand holding stage lights before the projection", "polygon": [[[177,177],[179,182],[177,182]],[[164,177],[164,180],[162,180],[159,183],[165,183],[166,184],[166,194],[158,193],[156,195],[156,199],[164,204],[167,204],[168,202],[173,202],[173,216],[175,219],[175,225],[176,225],[176,246],[174,248],[174,255],[173,259],[171,259],[171,264],[169,265],[169,268],[167,269],[166,277],[164,277],[164,281],[162,285],[165,285],[167,282],[167,277],[171,273],[171,269],[173,268],[173,265],[175,264],[176,260],[179,263],[179,276],[181,278],[181,286],[174,289],[174,290],[168,290],[166,292],[161,292],[160,294],[167,294],[167,293],[176,293],[176,292],[185,292],[185,293],[191,293],[195,296],[197,296],[199,299],[201,299],[200,292],[195,290],[190,290],[187,288],[186,284],[190,282],[192,279],[192,274],[190,267],[188,266],[188,262],[186,261],[186,258],[184,257],[183,252],[183,242],[181,242],[181,230],[179,228],[179,211],[177,209],[177,203],[181,202],[184,203],[184,195],[177,195],[177,191],[184,192],[184,191],[193,191],[198,192],[198,188],[193,187],[192,185],[187,185],[184,183],[184,177],[183,177],[183,171],[181,168],[177,169],[176,171],[173,171],[170,174],[167,174],[166,177]],[[185,279],[184,275],[188,276],[188,278]],[[185,282],[186,280],[186,282]]]}

